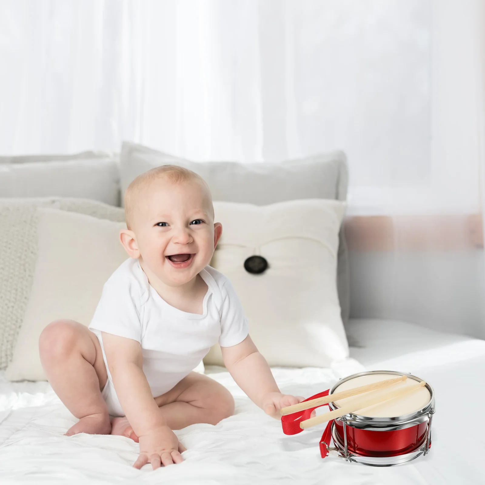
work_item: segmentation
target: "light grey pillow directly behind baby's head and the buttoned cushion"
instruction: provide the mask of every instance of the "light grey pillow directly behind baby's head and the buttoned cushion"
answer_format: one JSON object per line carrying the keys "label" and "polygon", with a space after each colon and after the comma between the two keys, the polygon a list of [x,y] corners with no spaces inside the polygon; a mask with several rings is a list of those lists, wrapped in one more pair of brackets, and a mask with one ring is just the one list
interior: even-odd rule
{"label": "light grey pillow directly behind baby's head and the buttoned cushion", "polygon": [[[338,199],[347,196],[347,159],[332,151],[284,162],[190,162],[135,143],[123,142],[120,154],[121,202],[129,183],[147,170],[181,165],[208,183],[213,200],[257,205],[294,199]],[[337,284],[341,315],[348,320],[350,282],[348,254],[340,231]]]}

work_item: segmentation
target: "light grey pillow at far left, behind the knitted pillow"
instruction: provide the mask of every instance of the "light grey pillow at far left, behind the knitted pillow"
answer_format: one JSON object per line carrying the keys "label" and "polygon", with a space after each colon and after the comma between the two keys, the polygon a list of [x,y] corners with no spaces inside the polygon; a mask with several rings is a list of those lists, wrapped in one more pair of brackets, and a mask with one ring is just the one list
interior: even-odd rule
{"label": "light grey pillow at far left, behind the knitted pillow", "polygon": [[0,157],[0,196],[79,197],[119,206],[118,164],[110,152]]}

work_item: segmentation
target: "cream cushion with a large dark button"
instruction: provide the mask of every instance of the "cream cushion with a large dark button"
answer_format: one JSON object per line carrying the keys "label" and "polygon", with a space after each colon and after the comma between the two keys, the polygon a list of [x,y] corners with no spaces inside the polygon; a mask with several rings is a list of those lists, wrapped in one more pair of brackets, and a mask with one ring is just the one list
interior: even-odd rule
{"label": "cream cushion with a large dark button", "polygon": [[[267,206],[214,202],[222,237],[211,266],[235,288],[249,334],[271,366],[330,367],[349,349],[340,317],[336,272],[345,204],[307,199]],[[260,274],[244,269],[266,259]],[[204,363],[224,365],[216,344]]]}

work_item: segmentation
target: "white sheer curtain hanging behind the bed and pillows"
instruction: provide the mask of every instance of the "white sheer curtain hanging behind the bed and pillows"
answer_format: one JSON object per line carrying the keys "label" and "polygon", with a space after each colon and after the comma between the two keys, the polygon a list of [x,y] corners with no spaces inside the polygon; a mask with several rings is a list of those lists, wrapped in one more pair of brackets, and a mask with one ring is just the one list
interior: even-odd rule
{"label": "white sheer curtain hanging behind the bed and pillows", "polygon": [[349,215],[388,215],[392,239],[354,245],[353,315],[485,337],[481,0],[0,6],[1,153],[343,149]]}

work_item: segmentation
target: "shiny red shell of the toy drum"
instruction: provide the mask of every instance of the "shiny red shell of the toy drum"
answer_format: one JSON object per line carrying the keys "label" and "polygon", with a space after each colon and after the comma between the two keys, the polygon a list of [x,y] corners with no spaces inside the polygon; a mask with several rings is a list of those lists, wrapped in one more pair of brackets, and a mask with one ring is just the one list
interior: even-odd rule
{"label": "shiny red shell of the toy drum", "polygon": [[[384,457],[412,453],[426,439],[426,420],[409,428],[392,431],[372,431],[354,428],[347,423],[347,447],[350,453],[360,456]],[[335,432],[343,448],[343,424],[335,420]]]}

